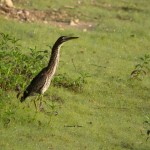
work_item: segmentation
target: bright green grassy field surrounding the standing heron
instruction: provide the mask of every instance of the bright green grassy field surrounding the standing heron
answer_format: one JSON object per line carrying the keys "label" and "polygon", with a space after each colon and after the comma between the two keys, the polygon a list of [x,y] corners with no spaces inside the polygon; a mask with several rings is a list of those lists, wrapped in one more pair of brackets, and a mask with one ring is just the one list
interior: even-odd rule
{"label": "bright green grassy field surrounding the standing heron", "polygon": [[[150,149],[150,2],[17,0],[15,6],[65,11],[92,27],[0,16],[0,32],[20,39],[17,51],[13,41],[0,38],[0,149]],[[15,88],[21,85],[23,90],[47,64],[49,47],[61,35],[79,39],[61,49],[56,76],[44,95],[49,113],[36,113],[31,102],[35,97],[20,103]],[[36,52],[44,50],[44,58],[37,59]],[[25,73],[14,73],[25,63]],[[131,78],[133,71],[138,75]]]}

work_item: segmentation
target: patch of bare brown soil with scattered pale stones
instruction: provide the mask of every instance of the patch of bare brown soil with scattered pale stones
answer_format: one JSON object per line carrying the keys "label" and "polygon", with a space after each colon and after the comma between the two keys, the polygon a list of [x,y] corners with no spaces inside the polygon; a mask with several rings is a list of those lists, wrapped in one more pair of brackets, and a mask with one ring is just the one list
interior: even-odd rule
{"label": "patch of bare brown soil with scattered pale stones", "polygon": [[64,10],[25,10],[20,8],[10,8],[0,4],[0,15],[21,22],[42,22],[44,24],[59,26],[61,28],[71,26],[82,29],[83,31],[87,31],[95,26],[91,22],[83,22],[79,19],[73,18]]}

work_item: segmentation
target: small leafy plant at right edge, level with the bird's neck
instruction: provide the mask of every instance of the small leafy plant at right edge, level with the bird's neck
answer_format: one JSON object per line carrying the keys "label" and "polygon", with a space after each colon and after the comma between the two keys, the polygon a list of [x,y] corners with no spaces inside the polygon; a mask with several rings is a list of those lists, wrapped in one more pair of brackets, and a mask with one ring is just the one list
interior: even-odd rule
{"label": "small leafy plant at right edge, level with the bird's neck", "polygon": [[134,70],[131,72],[131,79],[142,80],[144,76],[150,71],[150,55],[145,54],[139,59],[140,63],[135,65]]}

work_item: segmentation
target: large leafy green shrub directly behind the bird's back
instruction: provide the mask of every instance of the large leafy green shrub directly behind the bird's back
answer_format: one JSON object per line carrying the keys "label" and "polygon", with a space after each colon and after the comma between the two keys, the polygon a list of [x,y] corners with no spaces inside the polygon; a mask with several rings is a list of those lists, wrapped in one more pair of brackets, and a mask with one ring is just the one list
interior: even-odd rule
{"label": "large leafy green shrub directly behind the bird's back", "polygon": [[27,84],[27,79],[33,78],[36,71],[41,69],[48,51],[37,51],[29,48],[29,55],[21,52],[19,39],[8,34],[0,34],[0,88],[14,90],[17,85],[21,88]]}

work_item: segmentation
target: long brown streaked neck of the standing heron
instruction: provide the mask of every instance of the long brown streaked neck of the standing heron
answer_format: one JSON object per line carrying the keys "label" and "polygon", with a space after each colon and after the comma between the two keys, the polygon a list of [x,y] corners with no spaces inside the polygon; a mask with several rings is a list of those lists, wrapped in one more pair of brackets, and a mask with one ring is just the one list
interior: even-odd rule
{"label": "long brown streaked neck of the standing heron", "polygon": [[52,48],[50,60],[47,66],[47,69],[49,70],[49,72],[55,73],[56,67],[59,63],[60,48],[61,48],[61,45],[59,46],[54,45]]}

